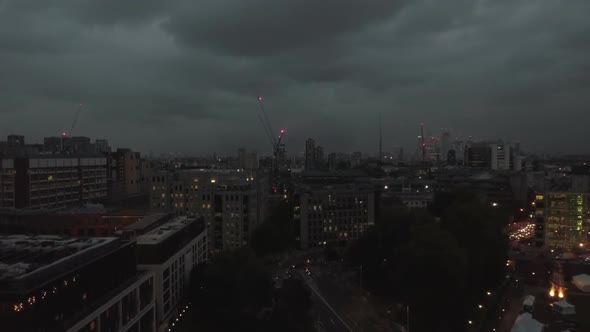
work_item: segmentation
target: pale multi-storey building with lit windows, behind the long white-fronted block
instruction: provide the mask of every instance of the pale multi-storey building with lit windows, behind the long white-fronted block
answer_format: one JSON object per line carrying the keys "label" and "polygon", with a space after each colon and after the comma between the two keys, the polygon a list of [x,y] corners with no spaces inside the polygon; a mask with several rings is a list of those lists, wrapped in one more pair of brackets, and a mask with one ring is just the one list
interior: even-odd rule
{"label": "pale multi-storey building with lit windows, behind the long white-fronted block", "polygon": [[152,180],[151,208],[203,216],[211,250],[247,245],[266,217],[269,183],[263,170],[179,169],[158,172]]}

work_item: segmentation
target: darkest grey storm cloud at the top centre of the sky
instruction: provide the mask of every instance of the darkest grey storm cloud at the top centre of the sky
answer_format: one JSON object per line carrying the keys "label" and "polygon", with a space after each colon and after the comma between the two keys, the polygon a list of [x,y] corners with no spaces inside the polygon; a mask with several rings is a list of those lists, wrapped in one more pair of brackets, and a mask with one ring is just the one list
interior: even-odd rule
{"label": "darkest grey storm cloud at the top centre of the sky", "polygon": [[391,17],[406,0],[214,0],[185,3],[165,24],[180,42],[233,55],[327,47],[346,32]]}

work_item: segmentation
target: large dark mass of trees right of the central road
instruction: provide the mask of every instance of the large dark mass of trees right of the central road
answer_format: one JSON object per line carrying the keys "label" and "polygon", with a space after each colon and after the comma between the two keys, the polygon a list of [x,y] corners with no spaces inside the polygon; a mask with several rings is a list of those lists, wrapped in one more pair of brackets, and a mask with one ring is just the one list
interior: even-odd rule
{"label": "large dark mass of trees right of the central road", "polygon": [[350,250],[366,287],[409,305],[413,331],[462,331],[505,274],[506,215],[468,194],[431,213],[388,211]]}

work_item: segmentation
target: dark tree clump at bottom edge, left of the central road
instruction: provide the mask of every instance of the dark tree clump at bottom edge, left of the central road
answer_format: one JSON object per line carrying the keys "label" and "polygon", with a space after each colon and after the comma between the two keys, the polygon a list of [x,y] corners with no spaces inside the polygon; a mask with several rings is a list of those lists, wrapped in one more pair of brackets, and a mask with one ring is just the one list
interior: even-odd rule
{"label": "dark tree clump at bottom edge, left of the central road", "polygon": [[202,331],[313,331],[303,281],[288,279],[275,288],[268,269],[248,249],[220,254],[195,268],[189,297]]}

